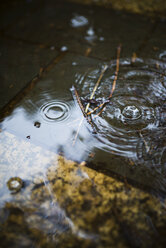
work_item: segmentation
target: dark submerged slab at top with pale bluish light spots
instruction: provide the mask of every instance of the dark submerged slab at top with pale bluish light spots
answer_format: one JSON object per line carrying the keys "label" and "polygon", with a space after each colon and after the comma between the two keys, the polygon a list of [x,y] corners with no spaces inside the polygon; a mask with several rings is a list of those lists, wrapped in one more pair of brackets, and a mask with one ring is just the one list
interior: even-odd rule
{"label": "dark submerged slab at top with pale bluish light spots", "polygon": [[152,27],[142,16],[101,7],[47,1],[35,13],[21,18],[8,34],[58,49],[68,49],[103,60],[116,57],[119,43],[123,57],[131,57]]}

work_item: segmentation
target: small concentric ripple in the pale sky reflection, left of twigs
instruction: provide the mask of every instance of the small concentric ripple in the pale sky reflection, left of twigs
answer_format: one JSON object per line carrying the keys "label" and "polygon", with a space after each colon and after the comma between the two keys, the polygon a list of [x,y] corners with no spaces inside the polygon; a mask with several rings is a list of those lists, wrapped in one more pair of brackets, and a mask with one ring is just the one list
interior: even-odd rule
{"label": "small concentric ripple in the pale sky reflection, left of twigs", "polygon": [[51,101],[41,107],[40,113],[47,122],[64,122],[70,116],[70,106],[66,102]]}

